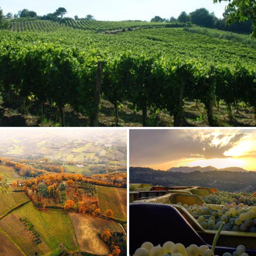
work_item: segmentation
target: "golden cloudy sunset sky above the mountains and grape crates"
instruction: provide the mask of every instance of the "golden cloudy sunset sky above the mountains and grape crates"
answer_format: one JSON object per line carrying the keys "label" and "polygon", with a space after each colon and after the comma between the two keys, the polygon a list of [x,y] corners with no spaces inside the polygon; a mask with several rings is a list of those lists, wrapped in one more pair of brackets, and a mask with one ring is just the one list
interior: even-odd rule
{"label": "golden cloudy sunset sky above the mountains and grape crates", "polygon": [[256,130],[130,130],[130,166],[242,167],[256,171]]}

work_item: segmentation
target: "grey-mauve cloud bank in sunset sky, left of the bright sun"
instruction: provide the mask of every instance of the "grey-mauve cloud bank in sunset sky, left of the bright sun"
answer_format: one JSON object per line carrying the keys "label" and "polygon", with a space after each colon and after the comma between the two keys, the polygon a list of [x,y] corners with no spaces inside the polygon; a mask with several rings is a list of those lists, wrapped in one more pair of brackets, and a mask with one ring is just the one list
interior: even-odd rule
{"label": "grey-mauve cloud bank in sunset sky, left of the bright sun", "polygon": [[[246,132],[200,129],[130,130],[130,165],[160,164],[182,158],[227,158],[225,151],[236,146],[248,135]],[[214,138],[222,140],[225,137],[229,137],[226,145],[213,145]]]}

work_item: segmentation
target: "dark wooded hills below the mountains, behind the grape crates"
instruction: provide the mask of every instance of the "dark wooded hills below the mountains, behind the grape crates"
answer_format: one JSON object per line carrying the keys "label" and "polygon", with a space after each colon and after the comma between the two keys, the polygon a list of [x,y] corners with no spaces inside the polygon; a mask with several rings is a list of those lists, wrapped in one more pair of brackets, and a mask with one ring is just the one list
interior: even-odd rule
{"label": "dark wooded hills below the mountains, behind the grape crates", "polygon": [[131,183],[148,183],[154,186],[213,187],[229,192],[256,190],[256,172],[194,171],[190,173],[153,170],[148,167],[130,167]]}

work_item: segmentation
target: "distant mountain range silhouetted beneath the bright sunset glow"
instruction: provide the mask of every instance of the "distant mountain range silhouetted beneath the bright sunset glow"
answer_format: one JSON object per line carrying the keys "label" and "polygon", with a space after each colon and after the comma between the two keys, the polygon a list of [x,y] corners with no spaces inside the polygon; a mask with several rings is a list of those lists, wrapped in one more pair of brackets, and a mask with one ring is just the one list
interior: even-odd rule
{"label": "distant mountain range silhouetted beneath the bright sunset glow", "polygon": [[184,173],[190,173],[190,172],[194,172],[194,171],[200,171],[200,172],[210,172],[210,171],[248,172],[241,167],[227,167],[227,168],[218,169],[213,166],[206,166],[206,167],[180,166],[180,167],[172,167],[169,170],[167,170],[167,172],[184,172]]}

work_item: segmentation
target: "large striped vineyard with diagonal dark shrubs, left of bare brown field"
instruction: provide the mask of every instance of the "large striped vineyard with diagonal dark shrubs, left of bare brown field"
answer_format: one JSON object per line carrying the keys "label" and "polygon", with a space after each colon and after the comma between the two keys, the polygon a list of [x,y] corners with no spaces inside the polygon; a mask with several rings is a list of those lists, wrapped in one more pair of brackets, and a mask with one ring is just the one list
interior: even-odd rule
{"label": "large striped vineyard with diagonal dark shrubs, left of bare brown field", "polygon": [[[25,255],[34,255],[35,252],[45,255],[57,249],[60,243],[69,251],[79,250],[74,228],[66,212],[40,212],[28,203],[4,217],[0,227]],[[0,233],[0,239],[7,239],[5,236]]]}

